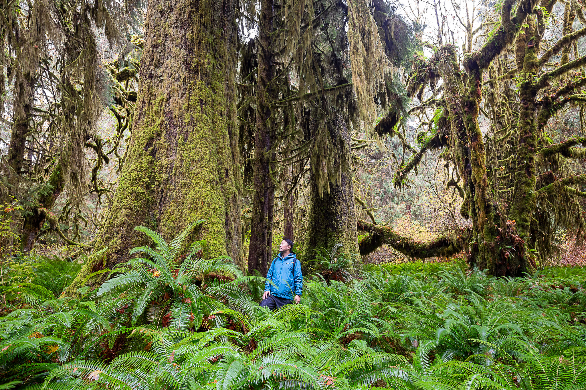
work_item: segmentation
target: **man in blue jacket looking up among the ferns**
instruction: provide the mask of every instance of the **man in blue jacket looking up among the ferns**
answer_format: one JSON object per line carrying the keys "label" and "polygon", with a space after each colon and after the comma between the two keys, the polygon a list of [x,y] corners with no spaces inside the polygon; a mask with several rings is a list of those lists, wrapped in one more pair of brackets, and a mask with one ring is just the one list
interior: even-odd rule
{"label": "man in blue jacket looking up among the ferns", "polygon": [[[301,264],[295,253],[291,253],[293,242],[289,239],[281,241],[280,253],[272,260],[268,268],[267,279],[275,285],[266,282],[264,284],[263,300],[260,306],[271,310],[281,308],[287,303],[295,304],[301,301],[303,290],[303,275],[301,275]],[[295,295],[295,298],[293,297]]]}

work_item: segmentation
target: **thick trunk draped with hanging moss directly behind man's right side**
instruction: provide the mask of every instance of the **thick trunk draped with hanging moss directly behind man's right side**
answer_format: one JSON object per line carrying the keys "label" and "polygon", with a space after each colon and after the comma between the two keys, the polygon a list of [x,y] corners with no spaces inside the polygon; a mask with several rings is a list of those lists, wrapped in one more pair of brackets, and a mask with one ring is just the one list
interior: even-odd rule
{"label": "thick trunk draped with hanging moss directly behind man's right side", "polygon": [[[327,3],[327,4],[326,4]],[[323,20],[321,73],[326,87],[347,83],[349,75],[347,8],[342,1],[324,1],[329,6]],[[342,251],[358,254],[356,211],[352,172],[350,171],[350,132],[347,111],[352,105],[349,88],[323,94],[321,107],[313,110],[310,121],[312,138],[311,172],[309,175],[309,213],[303,260],[315,258],[316,251],[331,250],[342,244]],[[323,115],[320,117],[319,115]]]}

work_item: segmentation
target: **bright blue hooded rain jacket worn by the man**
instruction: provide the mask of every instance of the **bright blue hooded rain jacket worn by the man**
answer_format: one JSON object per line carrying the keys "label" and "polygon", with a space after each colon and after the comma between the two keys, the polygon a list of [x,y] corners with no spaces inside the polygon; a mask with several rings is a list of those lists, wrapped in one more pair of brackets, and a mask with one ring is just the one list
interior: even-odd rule
{"label": "bright blue hooded rain jacket worn by the man", "polygon": [[278,254],[272,260],[271,267],[268,268],[267,279],[272,280],[277,286],[275,287],[269,282],[264,284],[264,291],[270,291],[271,295],[285,299],[293,299],[293,295],[301,296],[303,275],[301,274],[301,262],[297,260],[295,253],[289,253],[285,258]]}

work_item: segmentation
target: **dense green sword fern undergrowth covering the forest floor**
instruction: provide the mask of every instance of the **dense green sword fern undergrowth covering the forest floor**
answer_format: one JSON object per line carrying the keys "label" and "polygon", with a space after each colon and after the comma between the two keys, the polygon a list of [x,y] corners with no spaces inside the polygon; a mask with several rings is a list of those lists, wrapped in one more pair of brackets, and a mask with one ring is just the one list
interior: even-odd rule
{"label": "dense green sword fern undergrowth covering the forest floor", "polygon": [[64,261],[3,287],[0,389],[586,388],[584,268],[365,265],[269,312],[264,278],[137,229],[154,246],[77,298]]}

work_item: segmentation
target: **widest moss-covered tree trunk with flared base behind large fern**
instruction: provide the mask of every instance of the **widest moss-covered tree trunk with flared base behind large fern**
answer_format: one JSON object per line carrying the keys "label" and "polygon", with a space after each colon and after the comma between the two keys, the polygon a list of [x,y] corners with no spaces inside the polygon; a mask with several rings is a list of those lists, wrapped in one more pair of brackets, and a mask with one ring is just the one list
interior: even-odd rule
{"label": "widest moss-covered tree trunk with flared base behind large fern", "polygon": [[133,229],[173,237],[205,219],[205,257],[239,260],[239,152],[234,104],[236,2],[150,0],[128,159],[94,252],[66,291],[128,259]]}

